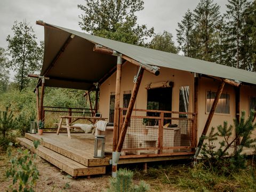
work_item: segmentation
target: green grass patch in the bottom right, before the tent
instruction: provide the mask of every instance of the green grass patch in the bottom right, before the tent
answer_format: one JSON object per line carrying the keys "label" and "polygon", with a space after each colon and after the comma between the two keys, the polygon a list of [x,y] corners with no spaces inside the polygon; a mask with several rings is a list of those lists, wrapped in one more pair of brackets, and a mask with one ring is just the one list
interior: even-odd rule
{"label": "green grass patch in the bottom right, before the tent", "polygon": [[[248,168],[221,175],[204,169],[203,165],[191,168],[188,165],[149,167],[147,173],[135,171],[134,177],[159,180],[165,186],[181,191],[256,191],[256,169]],[[151,185],[151,183],[150,183]]]}

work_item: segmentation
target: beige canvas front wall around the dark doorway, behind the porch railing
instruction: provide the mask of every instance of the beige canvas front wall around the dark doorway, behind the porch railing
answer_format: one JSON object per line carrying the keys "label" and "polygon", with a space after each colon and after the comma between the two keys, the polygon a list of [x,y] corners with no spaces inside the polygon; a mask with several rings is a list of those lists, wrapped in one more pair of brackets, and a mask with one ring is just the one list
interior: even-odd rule
{"label": "beige canvas front wall around the dark doorway, behind the porch railing", "polygon": [[[132,63],[126,63],[122,67],[121,78],[121,102],[120,106],[123,107],[123,92],[132,91],[133,89],[133,77],[137,74],[137,66]],[[148,71],[145,71],[140,89],[138,92],[137,100],[134,108],[147,109],[147,90],[146,85],[154,82],[172,81],[174,82],[172,91],[172,111],[179,111],[179,88],[180,86],[189,86],[189,111],[193,111],[193,89],[194,89],[194,75],[181,70],[174,70],[169,68],[161,68],[160,75],[155,76]],[[109,117],[109,102],[110,93],[115,92],[116,73],[107,79],[100,86],[100,101],[99,111],[102,113],[102,117]],[[171,102],[171,98],[170,98]],[[142,115],[137,112],[136,115]]]}

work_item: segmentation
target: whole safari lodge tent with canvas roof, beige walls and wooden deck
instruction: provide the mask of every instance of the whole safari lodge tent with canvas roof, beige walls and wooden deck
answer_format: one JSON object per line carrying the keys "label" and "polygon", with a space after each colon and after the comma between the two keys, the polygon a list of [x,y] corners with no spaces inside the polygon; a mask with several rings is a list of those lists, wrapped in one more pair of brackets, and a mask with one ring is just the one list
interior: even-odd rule
{"label": "whole safari lodge tent with canvas roof, beige walls and wooden deck", "polygon": [[[233,124],[242,110],[248,116],[256,107],[253,72],[43,21],[37,24],[44,26],[45,33],[43,67],[36,76],[38,120],[45,125],[54,117],[55,124],[60,121],[57,109],[43,105],[44,87],[49,86],[85,90],[86,94],[95,91],[90,116],[99,113],[108,121],[106,130],[99,133],[106,137],[105,158],[93,157],[92,133],[71,132],[70,139],[67,133],[27,133],[20,139],[22,145],[72,176],[104,174],[106,166],[112,166],[115,176],[118,164],[140,162],[146,168],[147,162],[197,157],[202,146],[199,138],[210,127],[223,121]],[[71,116],[82,116],[82,111],[67,110],[66,127],[72,127]],[[35,150],[31,143],[40,138],[42,145]]]}

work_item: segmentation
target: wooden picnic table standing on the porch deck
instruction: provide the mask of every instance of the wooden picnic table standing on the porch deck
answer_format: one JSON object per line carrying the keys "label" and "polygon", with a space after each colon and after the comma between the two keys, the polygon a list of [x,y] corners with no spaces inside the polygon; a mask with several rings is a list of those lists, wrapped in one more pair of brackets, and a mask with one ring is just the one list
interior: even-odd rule
{"label": "wooden picnic table standing on the porch deck", "polygon": [[[62,125],[63,119],[66,119],[66,126]],[[72,119],[73,119],[73,121],[72,121]],[[71,124],[73,124],[74,122],[76,122],[79,119],[86,119],[86,120],[89,120],[91,123],[95,124],[97,121],[105,120],[107,118],[90,117],[90,116],[60,116],[60,122],[59,122],[59,125],[58,125],[57,135],[60,132],[60,128],[65,127],[65,128],[67,128],[68,138],[71,139],[70,128],[80,128],[80,127],[77,127],[77,126],[72,126]]]}

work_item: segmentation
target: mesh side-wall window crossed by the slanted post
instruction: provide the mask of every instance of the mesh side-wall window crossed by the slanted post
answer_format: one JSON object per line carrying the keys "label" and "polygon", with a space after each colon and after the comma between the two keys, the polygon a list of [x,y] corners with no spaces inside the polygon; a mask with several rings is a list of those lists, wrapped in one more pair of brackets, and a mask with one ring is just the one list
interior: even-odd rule
{"label": "mesh side-wall window crossed by the slanted post", "polygon": [[[216,92],[213,91],[207,91],[207,97],[206,97],[206,112],[209,113],[213,101],[215,99]],[[215,109],[215,113],[219,114],[229,114],[230,113],[230,95],[227,93],[222,93],[219,99],[219,102],[217,104],[217,107]]]}

